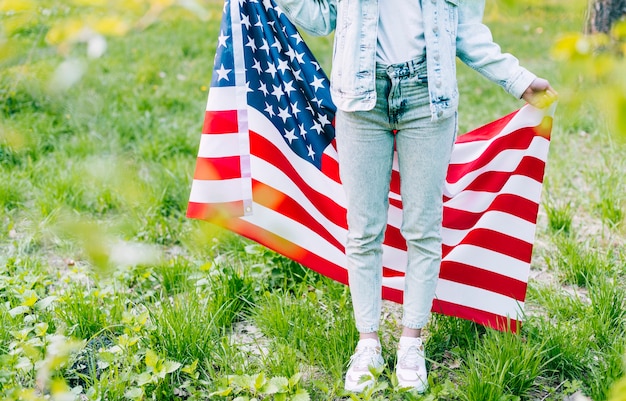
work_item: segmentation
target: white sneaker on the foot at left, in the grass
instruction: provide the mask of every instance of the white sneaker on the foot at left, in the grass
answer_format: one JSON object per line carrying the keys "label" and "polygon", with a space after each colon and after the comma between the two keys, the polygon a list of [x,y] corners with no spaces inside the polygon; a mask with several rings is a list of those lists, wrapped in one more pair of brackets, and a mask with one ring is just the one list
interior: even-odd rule
{"label": "white sneaker on the foot at left, in the grass", "polygon": [[360,340],[354,355],[350,357],[344,388],[360,393],[367,386],[374,384],[374,376],[369,368],[380,368],[384,363],[378,340],[370,338]]}

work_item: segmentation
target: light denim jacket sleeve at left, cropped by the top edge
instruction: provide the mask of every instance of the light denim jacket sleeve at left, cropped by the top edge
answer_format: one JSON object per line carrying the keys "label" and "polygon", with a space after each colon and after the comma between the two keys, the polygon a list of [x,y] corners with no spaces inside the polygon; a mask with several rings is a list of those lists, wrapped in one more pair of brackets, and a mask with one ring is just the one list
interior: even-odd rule
{"label": "light denim jacket sleeve at left, cropped by the top edge", "polygon": [[276,0],[294,24],[314,36],[325,36],[335,29],[336,0]]}

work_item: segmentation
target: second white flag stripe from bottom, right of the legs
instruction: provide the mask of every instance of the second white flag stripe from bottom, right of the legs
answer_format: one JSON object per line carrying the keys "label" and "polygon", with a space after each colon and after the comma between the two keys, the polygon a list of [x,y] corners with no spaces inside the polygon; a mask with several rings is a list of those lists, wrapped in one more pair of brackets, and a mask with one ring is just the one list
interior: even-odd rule
{"label": "second white flag stripe from bottom, right of the legs", "polygon": [[528,282],[530,263],[475,245],[458,245],[443,259]]}

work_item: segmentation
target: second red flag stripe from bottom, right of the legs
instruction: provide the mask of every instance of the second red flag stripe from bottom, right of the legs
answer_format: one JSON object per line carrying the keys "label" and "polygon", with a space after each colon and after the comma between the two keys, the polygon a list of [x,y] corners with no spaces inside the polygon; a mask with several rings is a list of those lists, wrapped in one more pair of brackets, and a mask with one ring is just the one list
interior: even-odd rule
{"label": "second red flag stripe from bottom, right of the legs", "polygon": [[524,301],[526,298],[525,282],[464,263],[444,260],[441,263],[439,278],[482,288],[518,301]]}

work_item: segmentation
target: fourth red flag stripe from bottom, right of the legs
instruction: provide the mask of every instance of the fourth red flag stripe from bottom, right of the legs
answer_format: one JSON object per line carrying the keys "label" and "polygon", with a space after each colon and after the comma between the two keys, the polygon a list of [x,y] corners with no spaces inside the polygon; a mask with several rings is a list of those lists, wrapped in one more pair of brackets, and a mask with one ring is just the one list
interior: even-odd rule
{"label": "fourth red flag stripe from bottom, right of the legs", "polygon": [[539,204],[517,195],[502,194],[495,197],[487,210],[482,212],[468,212],[466,210],[443,208],[443,226],[454,230],[469,230],[487,212],[503,212],[535,224]]}

